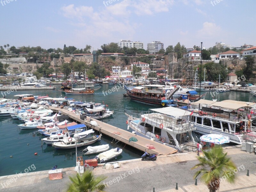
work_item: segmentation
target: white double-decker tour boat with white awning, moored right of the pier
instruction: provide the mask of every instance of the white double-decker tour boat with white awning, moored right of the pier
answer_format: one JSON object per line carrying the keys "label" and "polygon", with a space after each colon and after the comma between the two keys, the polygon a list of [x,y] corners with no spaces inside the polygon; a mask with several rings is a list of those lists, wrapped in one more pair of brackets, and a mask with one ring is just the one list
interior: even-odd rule
{"label": "white double-decker tour boat with white awning, moored right of the pier", "polygon": [[139,118],[126,114],[126,124],[129,125],[127,129],[131,128],[137,135],[153,138],[157,142],[183,151],[184,145],[188,144],[184,138],[190,138],[194,144],[192,131],[195,127],[189,121],[190,113],[180,108],[166,107],[141,112]]}

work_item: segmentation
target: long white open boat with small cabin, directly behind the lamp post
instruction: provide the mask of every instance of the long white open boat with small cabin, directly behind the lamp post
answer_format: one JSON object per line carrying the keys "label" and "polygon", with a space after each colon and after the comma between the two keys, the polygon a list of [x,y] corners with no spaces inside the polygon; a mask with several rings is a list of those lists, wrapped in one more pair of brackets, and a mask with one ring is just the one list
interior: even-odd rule
{"label": "long white open boat with small cabin, directly behind the lamp post", "polygon": [[91,133],[86,135],[83,139],[76,140],[74,137],[69,137],[67,140],[61,142],[52,143],[52,147],[56,149],[71,149],[76,147],[84,147],[86,145],[91,145],[96,141],[99,141],[101,138],[100,135]]}

